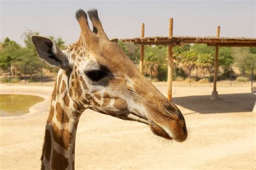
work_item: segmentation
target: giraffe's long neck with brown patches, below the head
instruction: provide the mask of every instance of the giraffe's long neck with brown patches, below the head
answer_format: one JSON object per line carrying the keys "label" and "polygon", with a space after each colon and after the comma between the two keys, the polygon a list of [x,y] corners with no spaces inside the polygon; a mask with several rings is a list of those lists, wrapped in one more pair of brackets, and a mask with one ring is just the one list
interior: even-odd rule
{"label": "giraffe's long neck with brown patches, below the head", "polygon": [[68,73],[59,69],[45,127],[42,169],[75,168],[76,131],[83,111],[71,100]]}

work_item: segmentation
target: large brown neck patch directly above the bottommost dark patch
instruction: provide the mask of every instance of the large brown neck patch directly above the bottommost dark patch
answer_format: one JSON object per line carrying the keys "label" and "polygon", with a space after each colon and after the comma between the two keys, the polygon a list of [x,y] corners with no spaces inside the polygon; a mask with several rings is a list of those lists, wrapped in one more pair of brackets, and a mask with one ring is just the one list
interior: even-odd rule
{"label": "large brown neck patch directly above the bottommost dark patch", "polygon": [[71,144],[72,134],[67,129],[58,129],[54,123],[52,125],[52,134],[54,141],[68,151]]}

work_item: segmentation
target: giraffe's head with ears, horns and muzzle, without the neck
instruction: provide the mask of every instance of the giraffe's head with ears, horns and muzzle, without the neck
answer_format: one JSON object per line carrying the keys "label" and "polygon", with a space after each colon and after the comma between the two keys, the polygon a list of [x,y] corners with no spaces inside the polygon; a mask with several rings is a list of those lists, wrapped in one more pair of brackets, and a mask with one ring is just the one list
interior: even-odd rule
{"label": "giraffe's head with ears, horns and muzzle, without the neck", "polygon": [[49,38],[31,36],[40,58],[68,75],[66,88],[75,109],[142,122],[160,137],[184,141],[187,130],[180,110],[139,72],[117,42],[107,38],[97,10],[87,13],[93,31],[86,12],[78,10],[79,40],[63,51]]}

